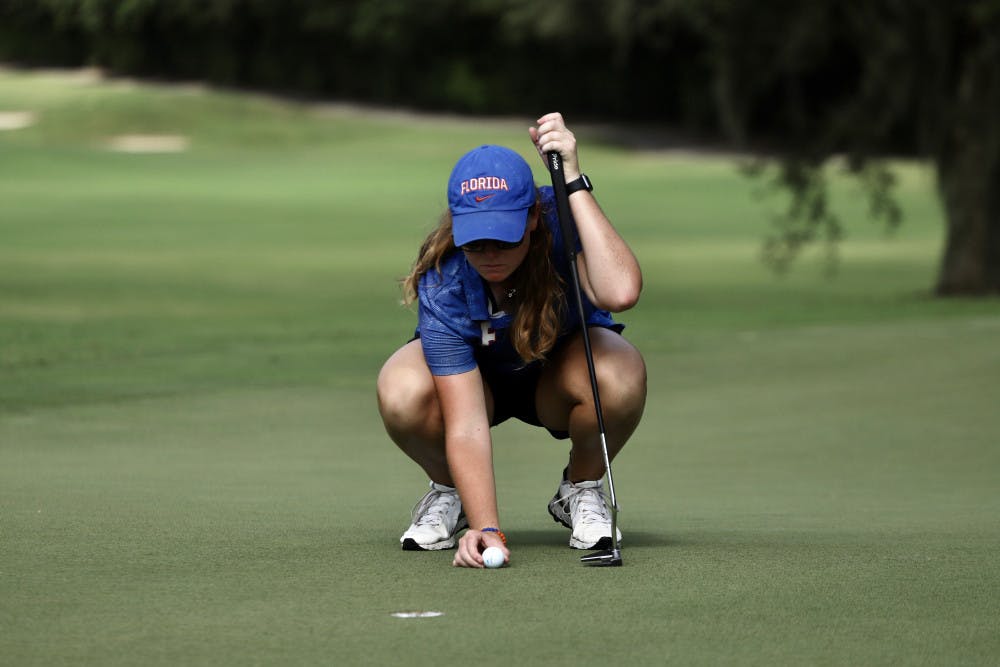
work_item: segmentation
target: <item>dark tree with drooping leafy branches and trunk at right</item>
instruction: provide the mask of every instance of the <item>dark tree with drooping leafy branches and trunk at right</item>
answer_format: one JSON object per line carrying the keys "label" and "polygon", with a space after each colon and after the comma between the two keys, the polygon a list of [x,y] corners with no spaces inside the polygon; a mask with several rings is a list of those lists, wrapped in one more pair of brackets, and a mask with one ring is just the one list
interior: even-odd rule
{"label": "dark tree with drooping leafy branches and trunk at right", "polygon": [[892,224],[879,157],[912,152],[933,161],[947,218],[937,293],[1000,293],[1000,0],[680,4],[707,38],[720,125],[784,156],[773,261],[839,237],[828,158],[848,157]]}

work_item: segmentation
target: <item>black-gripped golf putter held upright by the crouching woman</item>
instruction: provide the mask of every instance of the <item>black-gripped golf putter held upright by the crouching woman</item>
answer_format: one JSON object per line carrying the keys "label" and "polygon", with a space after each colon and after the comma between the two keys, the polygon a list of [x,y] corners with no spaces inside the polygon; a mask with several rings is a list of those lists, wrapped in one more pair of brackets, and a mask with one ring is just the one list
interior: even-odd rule
{"label": "black-gripped golf putter held upright by the crouching woman", "polygon": [[611,548],[582,556],[580,561],[584,565],[620,566],[622,552],[618,547],[618,498],[615,496],[615,480],[611,474],[611,458],[608,456],[608,442],[604,435],[606,433],[604,411],[601,410],[601,395],[597,388],[597,373],[594,371],[594,352],[590,347],[590,332],[587,331],[587,313],[583,307],[580,274],[576,268],[576,225],[569,211],[569,195],[566,194],[566,174],[563,171],[562,155],[557,151],[549,151],[545,156],[548,159],[549,173],[552,175],[552,189],[556,195],[556,210],[559,215],[559,228],[562,230],[563,248],[566,250],[566,260],[569,262],[570,275],[573,279],[576,309],[580,316],[580,331],[583,334],[583,350],[587,357],[587,370],[590,372],[590,388],[594,392],[594,409],[597,412],[597,428],[601,436],[601,453],[604,455],[604,470],[608,477],[608,494],[611,500]]}

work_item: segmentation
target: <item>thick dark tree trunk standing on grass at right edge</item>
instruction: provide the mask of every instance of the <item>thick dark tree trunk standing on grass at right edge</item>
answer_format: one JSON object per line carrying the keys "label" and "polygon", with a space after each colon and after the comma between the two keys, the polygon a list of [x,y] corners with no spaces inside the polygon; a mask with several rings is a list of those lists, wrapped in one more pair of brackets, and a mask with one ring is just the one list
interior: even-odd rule
{"label": "thick dark tree trunk standing on grass at right edge", "polygon": [[1000,75],[990,49],[970,50],[959,76],[937,157],[948,225],[937,293],[1000,294]]}

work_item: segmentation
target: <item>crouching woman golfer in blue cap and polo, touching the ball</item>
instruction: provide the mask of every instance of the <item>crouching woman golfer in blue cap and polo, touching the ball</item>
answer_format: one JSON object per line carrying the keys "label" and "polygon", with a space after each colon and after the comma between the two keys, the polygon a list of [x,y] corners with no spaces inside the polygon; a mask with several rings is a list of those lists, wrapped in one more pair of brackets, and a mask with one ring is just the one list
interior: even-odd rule
{"label": "crouching woman golfer in blue cap and polo, touching the ball", "polygon": [[[642,416],[646,368],[610,312],[635,305],[642,274],[591,194],[562,116],[536,122],[528,134],[539,154],[558,151],[563,158],[613,458]],[[490,427],[510,417],[569,438],[569,462],[549,513],[572,530],[571,547],[611,545],[604,458],[581,322],[567,303],[572,285],[564,242],[552,188],[536,188],[517,153],[480,146],[459,159],[448,181],[448,211],[403,281],[405,300],[419,303],[416,337],[378,378],[386,431],[430,478],[431,490],[400,538],[403,549],[451,549],[468,528],[454,565],[483,567],[480,554],[490,546],[509,561]]]}

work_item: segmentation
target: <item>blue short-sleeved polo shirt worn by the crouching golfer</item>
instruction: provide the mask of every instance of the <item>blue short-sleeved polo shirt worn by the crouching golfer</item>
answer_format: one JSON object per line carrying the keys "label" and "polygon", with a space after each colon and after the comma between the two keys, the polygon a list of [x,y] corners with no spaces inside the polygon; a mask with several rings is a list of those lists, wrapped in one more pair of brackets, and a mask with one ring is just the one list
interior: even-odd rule
{"label": "blue short-sleeved polo shirt worn by the crouching golfer", "polygon": [[[572,274],[563,250],[562,232],[551,187],[540,188],[541,221],[552,233],[553,263],[562,276],[567,293],[560,337],[579,328],[580,318],[573,296]],[[420,278],[417,290],[419,321],[416,334],[424,358],[434,375],[456,375],[480,366],[491,371],[513,372],[526,366],[507,335],[511,317],[492,312],[482,276],[456,250],[441,262],[441,272],[430,270]],[[617,324],[606,310],[596,308],[583,294],[587,323],[616,331]],[[538,363],[538,362],[535,362]]]}

